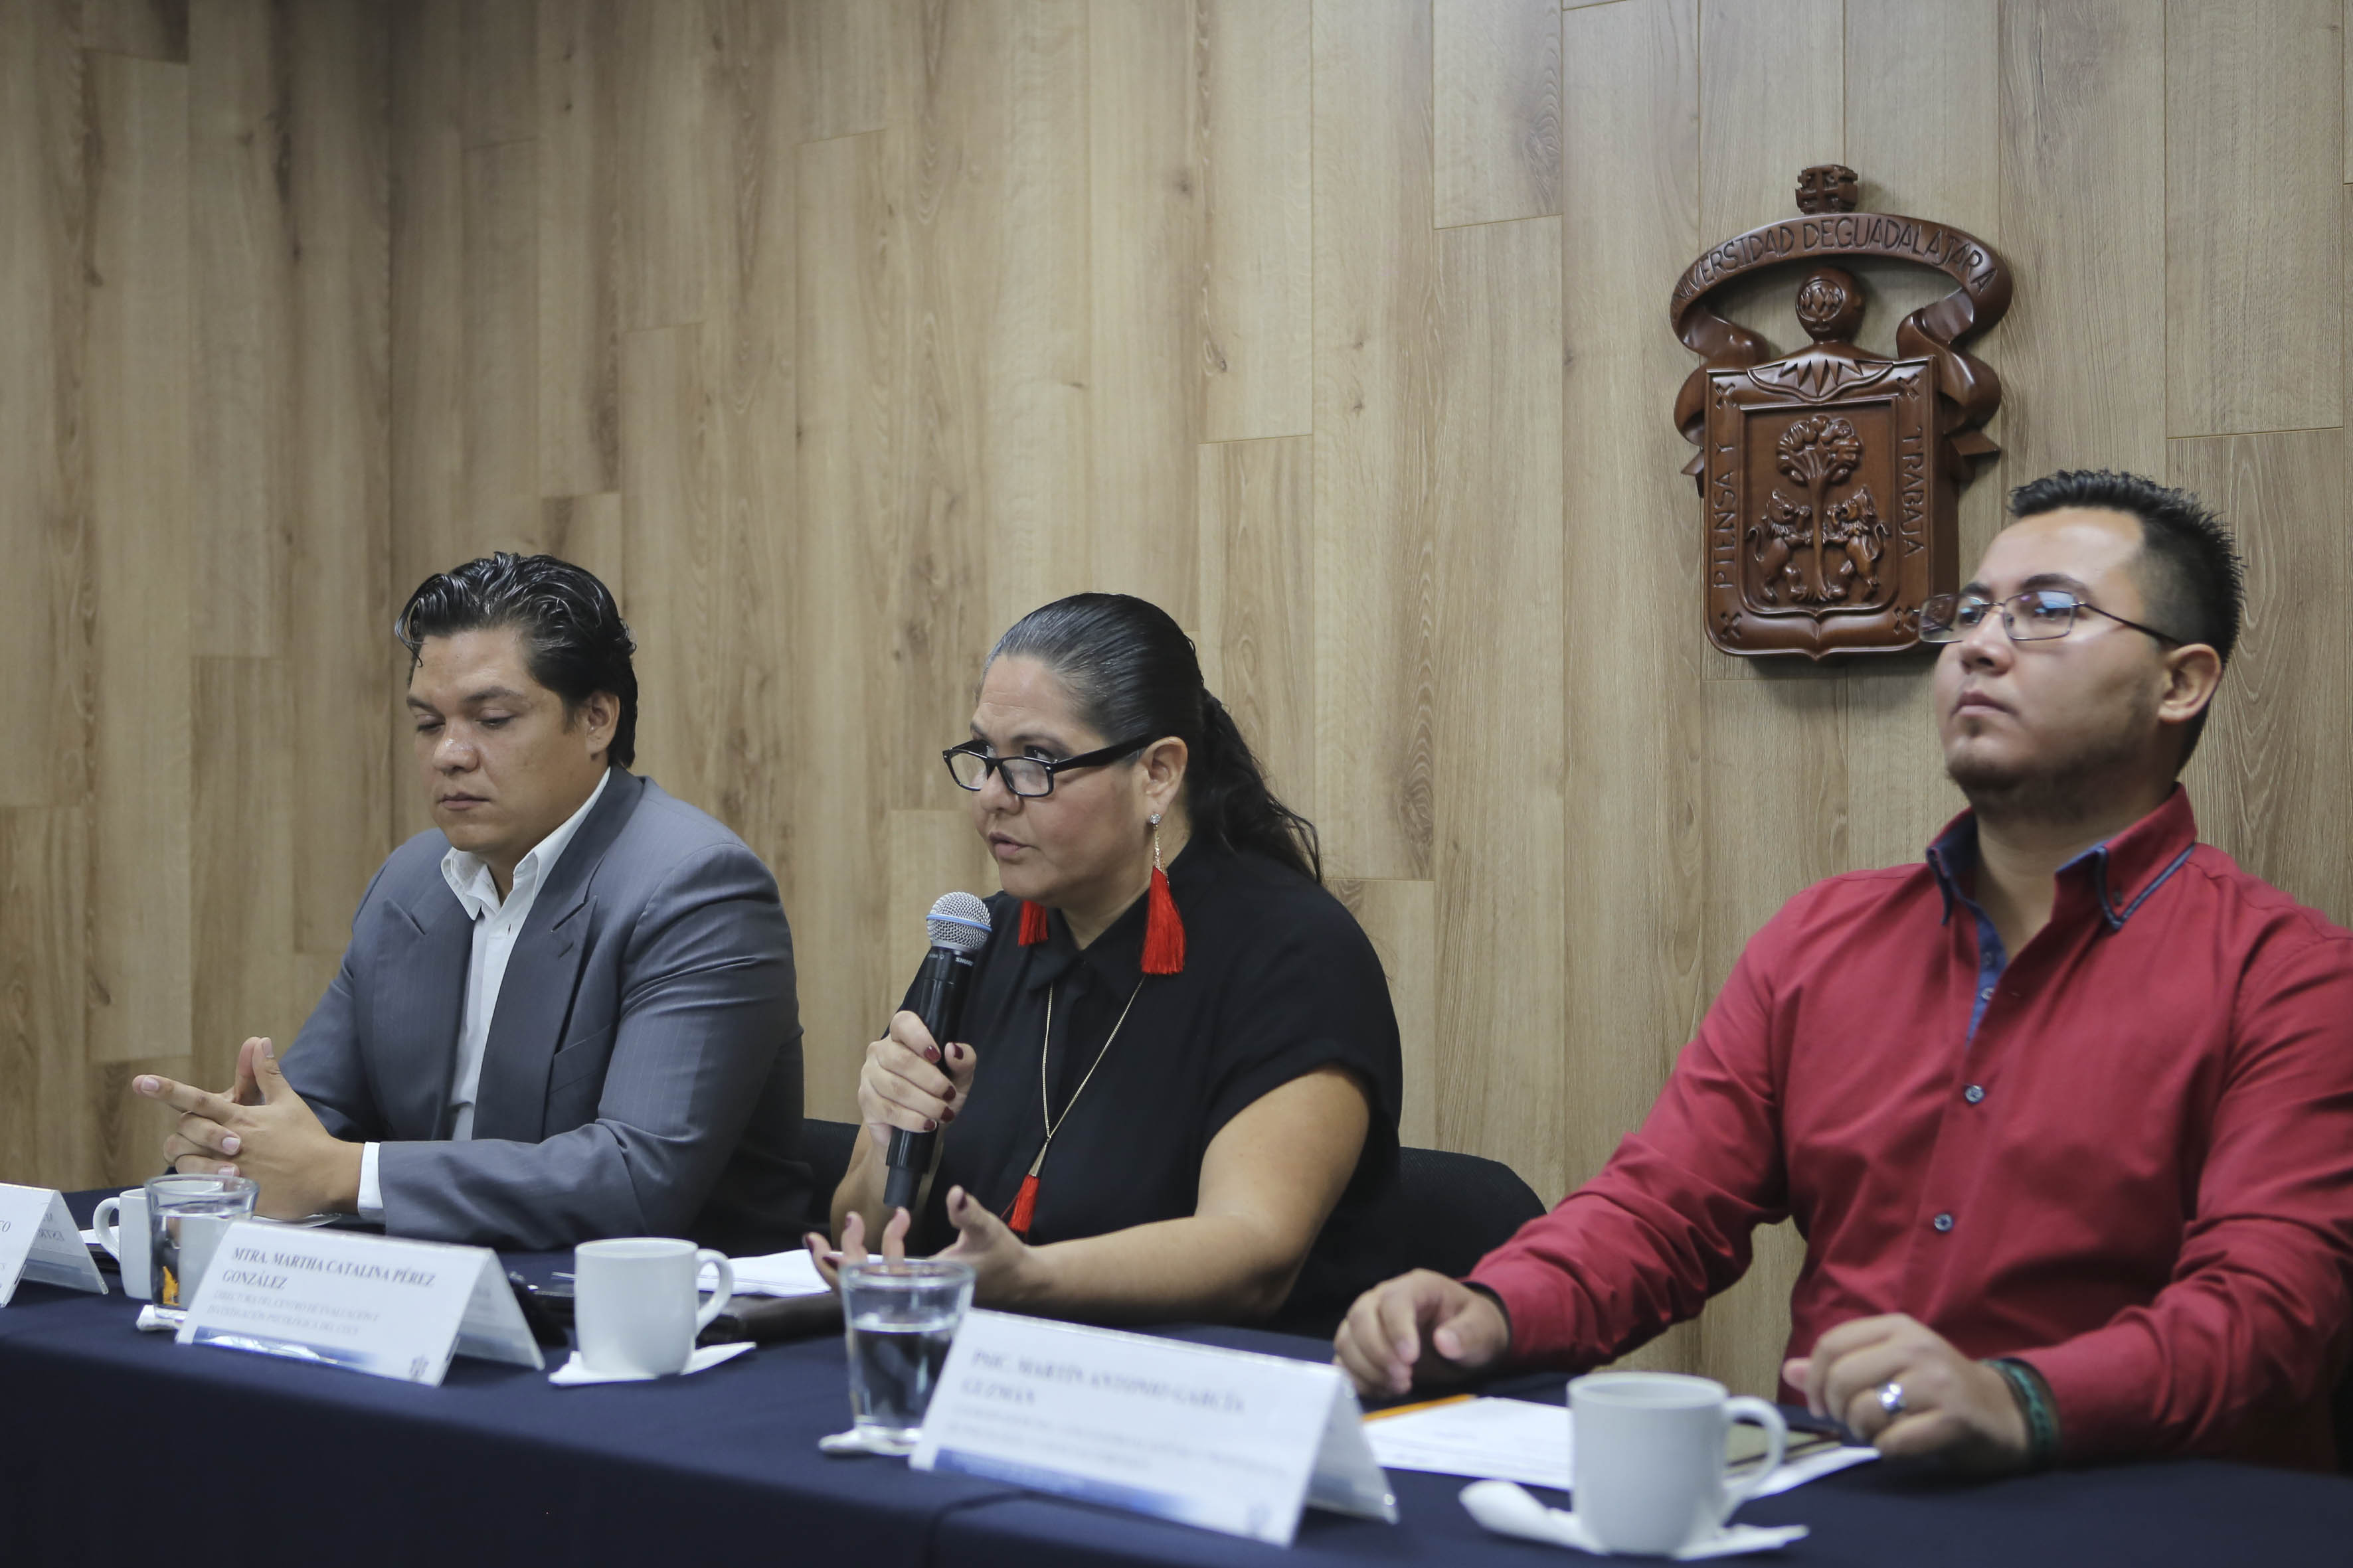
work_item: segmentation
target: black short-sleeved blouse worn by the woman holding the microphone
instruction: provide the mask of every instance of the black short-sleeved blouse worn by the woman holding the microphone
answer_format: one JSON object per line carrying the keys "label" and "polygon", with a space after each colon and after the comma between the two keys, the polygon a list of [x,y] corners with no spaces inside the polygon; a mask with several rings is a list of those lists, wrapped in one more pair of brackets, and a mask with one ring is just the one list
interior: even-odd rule
{"label": "black short-sleeved blouse worn by the woman holding the microphone", "polygon": [[[1377,1284],[1362,1276],[1358,1260],[1369,1265],[1369,1253],[1351,1237],[1398,1166],[1405,1070],[1388,980],[1355,917],[1299,872],[1195,839],[1167,877],[1186,931],[1174,976],[1141,969],[1144,898],[1085,950],[1061,912],[1049,914],[1045,943],[1021,947],[1021,903],[1007,893],[988,900],[988,945],[962,1027],[979,1070],[941,1133],[920,1239],[925,1251],[953,1241],[953,1185],[998,1215],[1012,1211],[1045,1140],[1038,1077],[1052,992],[1045,1056],[1056,1131],[1038,1173],[1033,1244],[1188,1218],[1202,1154],[1242,1107],[1325,1065],[1358,1079],[1372,1105],[1365,1150],[1280,1314],[1329,1321]],[[1129,997],[1127,1023],[1106,1051]],[[1066,1114],[1089,1067],[1094,1079]]]}

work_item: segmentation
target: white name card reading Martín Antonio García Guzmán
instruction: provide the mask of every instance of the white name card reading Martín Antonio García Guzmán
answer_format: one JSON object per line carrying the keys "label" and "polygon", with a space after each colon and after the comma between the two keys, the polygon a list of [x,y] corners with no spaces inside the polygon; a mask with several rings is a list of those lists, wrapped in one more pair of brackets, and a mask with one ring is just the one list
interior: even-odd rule
{"label": "white name card reading Mart\u00edn Antonio Garc\u00eda Guzm\u00e1n", "polygon": [[915,1469],[1292,1544],[1304,1505],[1398,1521],[1339,1368],[969,1312]]}

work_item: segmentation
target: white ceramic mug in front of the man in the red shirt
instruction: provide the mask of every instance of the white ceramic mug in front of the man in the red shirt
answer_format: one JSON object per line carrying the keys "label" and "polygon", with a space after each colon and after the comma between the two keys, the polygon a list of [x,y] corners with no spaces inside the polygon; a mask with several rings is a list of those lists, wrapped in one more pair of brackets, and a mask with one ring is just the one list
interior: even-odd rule
{"label": "white ceramic mug in front of the man in the red shirt", "polygon": [[[1682,1373],[1593,1373],[1569,1382],[1572,1505],[1612,1552],[1666,1556],[1715,1535],[1788,1448],[1788,1422],[1762,1399]],[[1765,1462],[1725,1474],[1732,1422],[1765,1427]]]}

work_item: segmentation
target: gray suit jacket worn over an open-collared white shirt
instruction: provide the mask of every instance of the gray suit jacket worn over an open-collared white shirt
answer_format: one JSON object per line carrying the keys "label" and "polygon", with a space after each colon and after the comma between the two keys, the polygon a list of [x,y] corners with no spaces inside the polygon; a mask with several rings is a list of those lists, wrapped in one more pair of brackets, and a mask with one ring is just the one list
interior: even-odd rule
{"label": "gray suit jacket worn over an open-collared white shirt", "polygon": [[499,985],[473,1138],[442,1138],[473,922],[421,832],[376,872],[344,969],[285,1056],[336,1138],[381,1143],[395,1237],[560,1248],[791,1246],[800,1020],[776,879],[739,837],[614,769]]}

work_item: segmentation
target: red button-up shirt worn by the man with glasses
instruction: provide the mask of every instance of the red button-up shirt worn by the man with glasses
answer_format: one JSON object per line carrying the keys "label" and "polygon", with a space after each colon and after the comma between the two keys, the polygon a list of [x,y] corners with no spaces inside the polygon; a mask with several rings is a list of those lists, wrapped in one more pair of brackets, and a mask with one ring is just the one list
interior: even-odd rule
{"label": "red button-up shirt worn by the man with glasses", "polygon": [[[1977,825],[1758,931],[1642,1128],[1471,1279],[1595,1366],[1807,1239],[1791,1354],[1908,1312],[2052,1387],[2068,1458],[2332,1458],[2353,1269],[2353,933],[2172,799],[2005,961]],[[1781,1392],[1793,1399],[1791,1389]]]}

